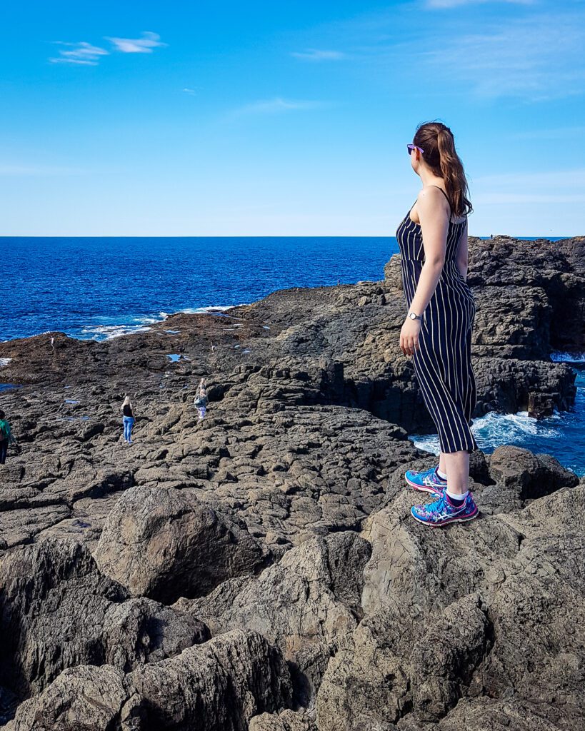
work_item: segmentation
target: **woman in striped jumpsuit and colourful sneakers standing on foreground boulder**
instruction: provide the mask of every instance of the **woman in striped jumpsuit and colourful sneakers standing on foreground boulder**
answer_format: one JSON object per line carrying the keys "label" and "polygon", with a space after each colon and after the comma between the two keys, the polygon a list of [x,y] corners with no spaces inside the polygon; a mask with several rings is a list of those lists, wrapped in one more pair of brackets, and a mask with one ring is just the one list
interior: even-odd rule
{"label": "woman in striped jumpsuit and colourful sneakers standing on foreground boulder", "polygon": [[396,232],[408,308],[400,349],[412,357],[441,452],[437,466],[405,477],[412,488],[436,498],[412,507],[412,516],[444,526],[478,515],[469,493],[469,452],[478,448],[469,428],[477,400],[471,364],[475,302],[467,285],[467,214],[473,209],[448,126],[421,124],[407,148],[423,187]]}

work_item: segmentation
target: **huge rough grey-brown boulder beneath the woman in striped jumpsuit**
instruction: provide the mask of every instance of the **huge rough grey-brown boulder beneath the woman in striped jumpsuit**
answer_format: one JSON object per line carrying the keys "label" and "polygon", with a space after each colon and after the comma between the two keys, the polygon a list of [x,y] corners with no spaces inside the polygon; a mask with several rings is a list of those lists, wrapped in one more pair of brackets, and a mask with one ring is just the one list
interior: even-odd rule
{"label": "huge rough grey-brown boulder beneath the woman in striped jumpsuit", "polygon": [[548,719],[579,727],[584,502],[585,482],[464,531],[420,532],[404,522],[404,496],[393,516],[388,508],[374,515],[366,616],[322,678],[319,730],[423,731],[434,721],[463,731],[461,719],[475,717],[478,728],[492,717],[504,724],[501,709],[486,708],[488,697],[513,698],[510,722],[527,705],[539,709],[536,727],[557,728]]}

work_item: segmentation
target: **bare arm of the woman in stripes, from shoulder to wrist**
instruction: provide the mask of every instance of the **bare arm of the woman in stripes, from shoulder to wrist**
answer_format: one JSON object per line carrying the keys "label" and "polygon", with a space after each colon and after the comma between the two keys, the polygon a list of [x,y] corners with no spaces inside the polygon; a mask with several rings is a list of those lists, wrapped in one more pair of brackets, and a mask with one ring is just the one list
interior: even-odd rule
{"label": "bare arm of the woman in stripes, from shoulder to wrist", "polygon": [[431,187],[423,188],[419,192],[416,208],[423,234],[425,262],[420,270],[418,287],[410,303],[410,311],[420,315],[434,295],[445,265],[449,215],[445,196]]}

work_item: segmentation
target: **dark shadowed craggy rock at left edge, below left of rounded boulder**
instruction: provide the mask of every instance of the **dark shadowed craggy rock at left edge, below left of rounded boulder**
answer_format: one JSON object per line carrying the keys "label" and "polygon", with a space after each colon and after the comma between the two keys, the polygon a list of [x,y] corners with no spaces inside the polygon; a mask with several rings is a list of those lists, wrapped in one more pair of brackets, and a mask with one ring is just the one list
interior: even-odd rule
{"label": "dark shadowed craggy rock at left edge, below left of rounded boulder", "polygon": [[131,670],[209,637],[193,616],[126,590],[102,575],[77,542],[45,540],[0,561],[0,684],[18,697],[62,670],[110,663]]}

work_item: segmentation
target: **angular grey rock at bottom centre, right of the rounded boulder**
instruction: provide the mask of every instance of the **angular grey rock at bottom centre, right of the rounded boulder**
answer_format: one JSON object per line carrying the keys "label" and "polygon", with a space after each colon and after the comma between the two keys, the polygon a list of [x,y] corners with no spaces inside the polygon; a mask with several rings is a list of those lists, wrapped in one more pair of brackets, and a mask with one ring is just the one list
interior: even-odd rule
{"label": "angular grey rock at bottom centre, right of the rounded boulder", "polygon": [[214,634],[254,629],[293,663],[297,693],[310,702],[329,656],[361,616],[369,544],[352,533],[312,539],[258,578],[228,581],[195,602],[178,602]]}

